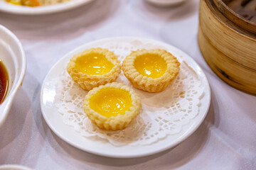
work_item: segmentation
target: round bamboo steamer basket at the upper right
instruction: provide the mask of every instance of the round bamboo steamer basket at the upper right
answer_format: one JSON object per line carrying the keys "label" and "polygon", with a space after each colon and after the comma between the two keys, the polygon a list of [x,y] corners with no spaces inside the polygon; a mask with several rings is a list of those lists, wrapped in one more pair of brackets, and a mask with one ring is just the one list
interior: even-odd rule
{"label": "round bamboo steamer basket at the upper right", "polygon": [[245,10],[246,6],[236,13],[228,7],[230,0],[200,1],[198,45],[220,79],[256,95],[256,0],[238,1],[240,5],[255,2],[255,13]]}

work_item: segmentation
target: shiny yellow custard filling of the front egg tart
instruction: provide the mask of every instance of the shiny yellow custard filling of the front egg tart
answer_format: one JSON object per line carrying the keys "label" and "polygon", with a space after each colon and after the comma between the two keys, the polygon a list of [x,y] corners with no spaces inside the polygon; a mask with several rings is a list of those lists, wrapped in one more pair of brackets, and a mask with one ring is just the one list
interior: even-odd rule
{"label": "shiny yellow custard filling of the front egg tart", "polygon": [[131,94],[124,89],[103,88],[90,98],[90,108],[107,118],[118,114],[124,115],[131,106]]}

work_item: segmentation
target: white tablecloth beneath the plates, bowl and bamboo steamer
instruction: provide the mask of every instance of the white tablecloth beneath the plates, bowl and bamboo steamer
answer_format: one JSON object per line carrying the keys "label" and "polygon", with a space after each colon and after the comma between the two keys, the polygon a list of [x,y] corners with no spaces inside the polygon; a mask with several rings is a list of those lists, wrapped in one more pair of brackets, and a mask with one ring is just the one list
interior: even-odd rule
{"label": "white tablecloth beneath the plates, bowl and bamboo steamer", "polygon": [[[143,0],[95,0],[45,16],[0,13],[0,23],[21,40],[28,62],[23,86],[0,128],[0,164],[33,169],[256,169],[256,96],[225,84],[203,60],[197,42],[198,6],[198,0],[168,8]],[[174,45],[206,73],[210,110],[180,145],[149,157],[112,159],[82,152],[48,128],[39,98],[49,69],[75,47],[119,36]]]}

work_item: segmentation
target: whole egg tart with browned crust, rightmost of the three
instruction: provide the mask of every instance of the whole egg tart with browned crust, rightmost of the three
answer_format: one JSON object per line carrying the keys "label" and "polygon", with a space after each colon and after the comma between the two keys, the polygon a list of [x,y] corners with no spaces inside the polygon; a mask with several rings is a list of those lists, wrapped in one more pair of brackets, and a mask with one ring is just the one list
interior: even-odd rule
{"label": "whole egg tart with browned crust, rightmost of the three", "polygon": [[166,50],[137,50],[122,63],[124,76],[133,86],[148,92],[166,89],[179,72],[180,63]]}

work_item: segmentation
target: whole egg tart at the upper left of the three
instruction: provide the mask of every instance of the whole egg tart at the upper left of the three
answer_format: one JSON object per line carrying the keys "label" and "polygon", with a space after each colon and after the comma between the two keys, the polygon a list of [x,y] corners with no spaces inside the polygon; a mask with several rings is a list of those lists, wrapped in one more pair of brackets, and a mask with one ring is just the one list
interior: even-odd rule
{"label": "whole egg tart at the upper left of the three", "polygon": [[91,90],[117,79],[121,64],[114,52],[97,47],[74,55],[67,71],[82,89]]}

